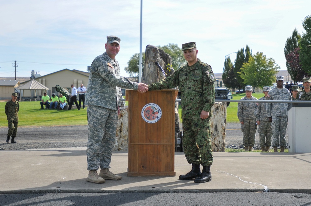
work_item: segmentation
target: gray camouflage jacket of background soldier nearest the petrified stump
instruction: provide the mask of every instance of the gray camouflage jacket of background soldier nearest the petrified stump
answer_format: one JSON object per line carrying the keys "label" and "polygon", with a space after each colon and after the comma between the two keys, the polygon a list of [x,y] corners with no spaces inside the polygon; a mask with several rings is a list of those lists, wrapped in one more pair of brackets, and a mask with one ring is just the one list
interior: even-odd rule
{"label": "gray camouflage jacket of background soldier nearest the petrified stump", "polygon": [[[241,100],[258,100],[256,97],[247,98],[244,96]],[[244,122],[245,119],[255,121],[255,102],[239,102],[238,103],[238,119],[240,122]]]}

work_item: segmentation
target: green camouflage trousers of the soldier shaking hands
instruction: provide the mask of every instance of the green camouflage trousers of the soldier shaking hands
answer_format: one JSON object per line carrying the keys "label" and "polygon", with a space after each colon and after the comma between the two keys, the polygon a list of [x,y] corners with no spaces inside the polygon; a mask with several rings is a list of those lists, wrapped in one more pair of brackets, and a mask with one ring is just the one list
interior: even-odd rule
{"label": "green camouflage trousers of the soldier shaking hands", "polygon": [[213,163],[210,121],[183,119],[183,151],[189,164]]}

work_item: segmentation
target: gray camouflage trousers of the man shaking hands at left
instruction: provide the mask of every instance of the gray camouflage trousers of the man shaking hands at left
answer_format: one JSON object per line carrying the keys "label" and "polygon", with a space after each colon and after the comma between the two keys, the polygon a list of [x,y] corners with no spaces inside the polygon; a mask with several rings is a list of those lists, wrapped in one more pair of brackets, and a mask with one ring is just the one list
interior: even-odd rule
{"label": "gray camouflage trousers of the man shaking hands at left", "polygon": [[118,110],[100,106],[87,107],[87,170],[110,168],[118,120]]}

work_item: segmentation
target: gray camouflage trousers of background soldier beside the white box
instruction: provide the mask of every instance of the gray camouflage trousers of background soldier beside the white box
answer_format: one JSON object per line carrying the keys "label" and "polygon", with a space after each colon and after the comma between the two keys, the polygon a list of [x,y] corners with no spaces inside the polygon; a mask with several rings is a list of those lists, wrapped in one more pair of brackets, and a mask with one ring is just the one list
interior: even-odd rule
{"label": "gray camouflage trousers of background soldier beside the white box", "polygon": [[[272,146],[286,146],[287,117],[272,117]],[[280,140],[279,140],[280,135]]]}

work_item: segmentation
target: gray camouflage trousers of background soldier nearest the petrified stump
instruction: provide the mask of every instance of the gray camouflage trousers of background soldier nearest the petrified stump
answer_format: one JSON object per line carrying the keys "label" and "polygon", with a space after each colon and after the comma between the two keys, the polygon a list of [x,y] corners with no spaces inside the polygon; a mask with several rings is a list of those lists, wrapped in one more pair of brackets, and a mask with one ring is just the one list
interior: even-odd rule
{"label": "gray camouflage trousers of background soldier nearest the petrified stump", "polygon": [[257,125],[255,120],[245,119],[244,124],[241,124],[241,130],[243,132],[243,146],[253,147],[256,140]]}

